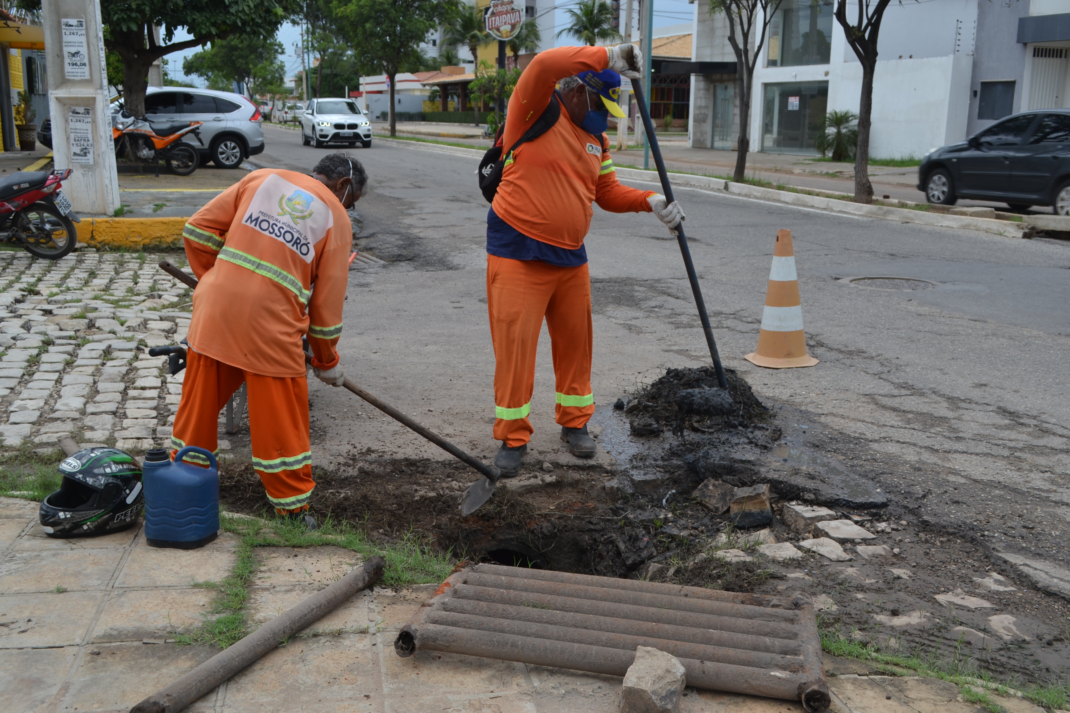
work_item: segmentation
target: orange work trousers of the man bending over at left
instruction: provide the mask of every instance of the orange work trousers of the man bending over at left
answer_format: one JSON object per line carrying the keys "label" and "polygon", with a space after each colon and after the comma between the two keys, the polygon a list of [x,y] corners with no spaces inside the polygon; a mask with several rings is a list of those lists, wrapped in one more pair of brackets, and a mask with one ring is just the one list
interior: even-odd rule
{"label": "orange work trousers of the man bending over at left", "polygon": [[[253,467],[275,512],[308,509],[316,482],[308,434],[308,382],[304,376],[264,376],[187,350],[182,401],[174,418],[171,458],[179,448],[219,450],[219,410],[245,382],[248,392]],[[187,453],[183,461],[208,465]]]}

